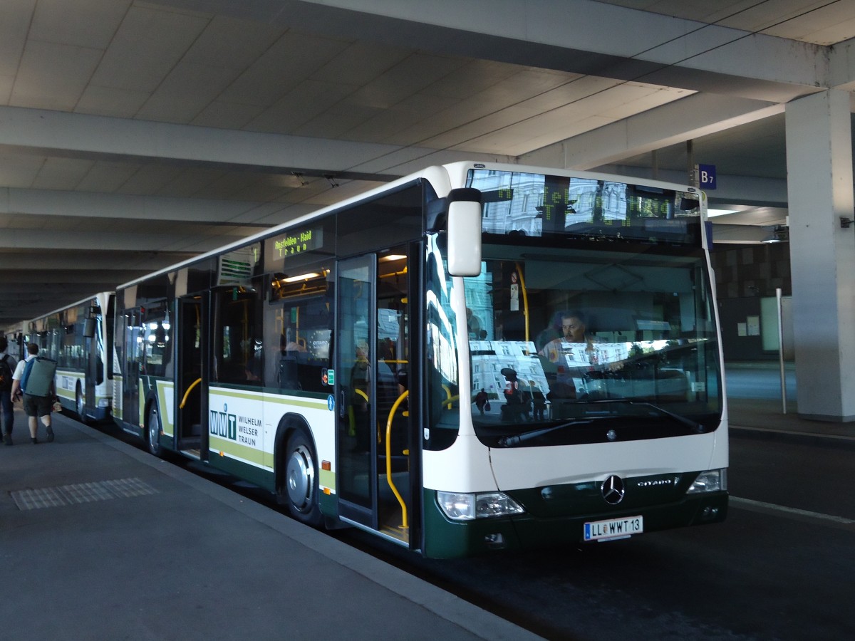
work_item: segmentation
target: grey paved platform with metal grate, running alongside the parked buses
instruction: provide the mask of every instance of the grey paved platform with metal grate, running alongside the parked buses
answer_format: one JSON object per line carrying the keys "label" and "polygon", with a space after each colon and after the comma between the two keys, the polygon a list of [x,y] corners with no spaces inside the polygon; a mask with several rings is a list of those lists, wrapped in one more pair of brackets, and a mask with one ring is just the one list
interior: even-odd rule
{"label": "grey paved platform with metal grate, running alongside the parked buses", "polygon": [[[17,639],[539,638],[119,438],[20,403],[0,446],[0,629]],[[39,427],[44,437],[44,427]]]}

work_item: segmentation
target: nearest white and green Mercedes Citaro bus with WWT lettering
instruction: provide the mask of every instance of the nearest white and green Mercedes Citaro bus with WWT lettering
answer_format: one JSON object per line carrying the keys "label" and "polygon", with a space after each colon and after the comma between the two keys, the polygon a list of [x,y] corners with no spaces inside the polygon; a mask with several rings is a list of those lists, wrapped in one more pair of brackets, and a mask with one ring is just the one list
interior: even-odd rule
{"label": "nearest white and green Mercedes Citaro bus with WWT lettering", "polygon": [[721,521],[708,243],[690,186],[426,168],[121,285],[115,420],[425,556]]}

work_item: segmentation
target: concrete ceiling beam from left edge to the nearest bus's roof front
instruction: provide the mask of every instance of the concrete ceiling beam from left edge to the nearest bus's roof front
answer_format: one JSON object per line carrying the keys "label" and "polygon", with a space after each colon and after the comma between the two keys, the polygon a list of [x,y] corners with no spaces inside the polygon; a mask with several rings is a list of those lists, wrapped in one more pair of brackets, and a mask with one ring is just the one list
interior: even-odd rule
{"label": "concrete ceiling beam from left edge to the nearest bus's roof front", "polygon": [[388,181],[497,156],[0,106],[0,147],[50,156]]}

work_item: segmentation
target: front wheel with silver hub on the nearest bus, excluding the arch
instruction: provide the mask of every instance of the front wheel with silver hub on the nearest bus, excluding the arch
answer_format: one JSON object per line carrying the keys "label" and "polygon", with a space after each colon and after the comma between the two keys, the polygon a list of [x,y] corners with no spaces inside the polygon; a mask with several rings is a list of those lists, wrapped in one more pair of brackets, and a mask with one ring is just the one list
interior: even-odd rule
{"label": "front wheel with silver hub on the nearest bus, excluding the arch", "polygon": [[[285,458],[284,498],[291,515],[306,525],[318,527],[323,522],[318,505],[318,469],[315,450],[304,432],[294,432],[288,439]],[[283,496],[284,495],[284,496]]]}

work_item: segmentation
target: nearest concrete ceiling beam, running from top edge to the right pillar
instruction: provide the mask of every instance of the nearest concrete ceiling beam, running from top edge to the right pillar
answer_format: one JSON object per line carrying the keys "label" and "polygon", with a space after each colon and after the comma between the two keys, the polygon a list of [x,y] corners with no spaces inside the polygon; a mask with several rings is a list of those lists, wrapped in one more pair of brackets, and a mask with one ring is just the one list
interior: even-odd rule
{"label": "nearest concrete ceiling beam, running from top edge to the right pillar", "polygon": [[[828,48],[593,0],[156,0],[344,38],[786,102],[817,91]],[[651,46],[652,42],[658,42]]]}

